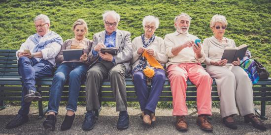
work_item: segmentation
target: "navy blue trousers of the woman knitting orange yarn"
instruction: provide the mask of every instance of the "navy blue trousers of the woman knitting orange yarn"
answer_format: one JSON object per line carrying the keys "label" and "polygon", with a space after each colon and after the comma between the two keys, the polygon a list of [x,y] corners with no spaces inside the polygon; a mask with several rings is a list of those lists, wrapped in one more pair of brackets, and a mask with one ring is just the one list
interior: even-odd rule
{"label": "navy blue trousers of the woman knitting orange yarn", "polygon": [[166,80],[165,71],[163,69],[154,69],[150,91],[148,90],[147,78],[142,71],[135,72],[133,70],[132,75],[134,75],[135,93],[141,110],[148,109],[155,112]]}

